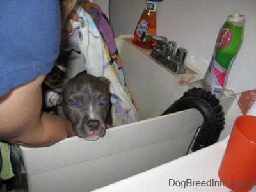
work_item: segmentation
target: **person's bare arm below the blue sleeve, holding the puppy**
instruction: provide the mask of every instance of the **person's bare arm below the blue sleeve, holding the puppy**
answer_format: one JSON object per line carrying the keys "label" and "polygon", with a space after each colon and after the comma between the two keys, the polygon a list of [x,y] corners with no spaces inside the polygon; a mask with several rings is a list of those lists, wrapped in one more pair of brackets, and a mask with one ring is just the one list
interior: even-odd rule
{"label": "person's bare arm below the blue sleeve, holding the puppy", "polygon": [[46,147],[76,135],[68,120],[41,111],[44,78],[39,76],[0,97],[0,140]]}

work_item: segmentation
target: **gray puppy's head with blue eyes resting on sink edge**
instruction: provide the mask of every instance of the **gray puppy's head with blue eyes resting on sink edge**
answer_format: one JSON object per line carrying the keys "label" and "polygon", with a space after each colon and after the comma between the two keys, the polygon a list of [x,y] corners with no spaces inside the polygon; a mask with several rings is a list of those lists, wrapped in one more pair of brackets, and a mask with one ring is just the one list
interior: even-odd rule
{"label": "gray puppy's head with blue eyes resting on sink edge", "polygon": [[[97,140],[104,136],[109,113],[110,81],[80,73],[49,97],[52,106],[60,105],[60,116],[70,120],[77,136]],[[61,113],[63,113],[61,115]]]}

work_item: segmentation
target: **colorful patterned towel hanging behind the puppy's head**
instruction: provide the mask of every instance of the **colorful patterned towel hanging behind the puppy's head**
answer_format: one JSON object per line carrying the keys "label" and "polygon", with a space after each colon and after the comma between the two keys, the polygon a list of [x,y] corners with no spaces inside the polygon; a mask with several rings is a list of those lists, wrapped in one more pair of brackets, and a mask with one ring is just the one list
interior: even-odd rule
{"label": "colorful patterned towel hanging behind the puppy's head", "polygon": [[[139,120],[138,111],[132,104],[131,94],[125,84],[122,64],[118,61],[120,58],[113,38],[113,31],[106,20],[106,16],[100,12],[101,10],[98,10],[100,12],[99,28],[104,29],[102,34],[105,34],[104,38],[106,38],[107,43],[90,15],[78,5],[75,6],[74,10],[79,16],[79,21],[72,21],[74,33],[63,44],[81,53],[88,74],[97,77],[103,76],[111,81],[113,126],[137,122]],[[108,33],[111,33],[112,37],[107,36]]]}

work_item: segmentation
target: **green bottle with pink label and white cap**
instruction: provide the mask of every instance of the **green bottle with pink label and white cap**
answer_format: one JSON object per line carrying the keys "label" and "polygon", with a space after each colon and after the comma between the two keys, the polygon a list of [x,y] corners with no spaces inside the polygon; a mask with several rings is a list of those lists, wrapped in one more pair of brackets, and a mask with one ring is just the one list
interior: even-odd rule
{"label": "green bottle with pink label and white cap", "polygon": [[216,40],[211,63],[203,80],[203,88],[217,98],[223,95],[228,74],[243,42],[244,15],[234,11],[228,15]]}

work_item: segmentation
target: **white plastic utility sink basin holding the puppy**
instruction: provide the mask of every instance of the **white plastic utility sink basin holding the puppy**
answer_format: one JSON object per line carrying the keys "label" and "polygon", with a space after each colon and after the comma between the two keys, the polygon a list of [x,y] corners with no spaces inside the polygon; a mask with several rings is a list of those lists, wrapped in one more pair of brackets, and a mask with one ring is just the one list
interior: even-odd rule
{"label": "white plastic utility sink basin holding the puppy", "polygon": [[[150,51],[133,45],[131,38],[117,38],[116,45],[140,122],[108,129],[96,141],[73,137],[51,147],[21,147],[29,191],[92,191],[188,152],[202,115],[195,109],[159,115],[201,82],[178,86],[175,74],[150,58]],[[71,54],[67,67],[65,81],[84,70],[79,54]],[[227,114],[234,97],[220,100]]]}

